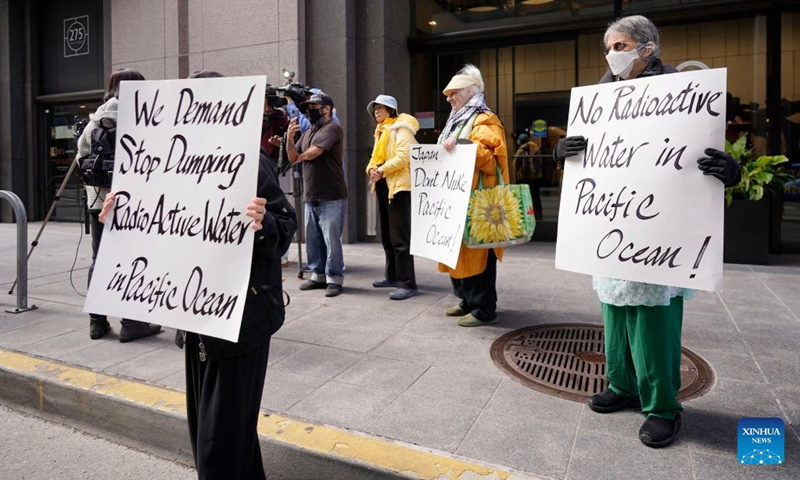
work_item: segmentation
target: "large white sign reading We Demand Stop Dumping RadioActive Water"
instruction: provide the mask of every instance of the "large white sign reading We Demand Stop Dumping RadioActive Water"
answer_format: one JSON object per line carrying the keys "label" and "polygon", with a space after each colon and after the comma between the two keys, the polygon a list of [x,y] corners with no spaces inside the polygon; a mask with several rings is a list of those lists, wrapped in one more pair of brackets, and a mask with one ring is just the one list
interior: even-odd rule
{"label": "large white sign reading We Demand Stop Dumping RadioActive Water", "polygon": [[236,342],[266,77],[123,82],[117,192],[84,305]]}

